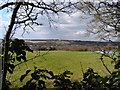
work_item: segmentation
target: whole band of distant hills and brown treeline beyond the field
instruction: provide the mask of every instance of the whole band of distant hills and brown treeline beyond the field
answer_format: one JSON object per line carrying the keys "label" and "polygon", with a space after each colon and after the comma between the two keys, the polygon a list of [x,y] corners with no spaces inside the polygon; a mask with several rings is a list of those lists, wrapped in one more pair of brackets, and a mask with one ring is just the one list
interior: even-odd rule
{"label": "whole band of distant hills and brown treeline beyond the field", "polygon": [[74,40],[39,40],[26,41],[34,50],[64,50],[64,51],[116,51],[119,42],[95,42]]}

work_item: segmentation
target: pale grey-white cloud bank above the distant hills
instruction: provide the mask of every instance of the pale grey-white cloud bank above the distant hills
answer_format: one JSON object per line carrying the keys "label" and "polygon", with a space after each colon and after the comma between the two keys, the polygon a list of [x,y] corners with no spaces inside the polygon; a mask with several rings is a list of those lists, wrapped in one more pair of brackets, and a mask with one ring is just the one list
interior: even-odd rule
{"label": "pale grey-white cloud bank above the distant hills", "polygon": [[[15,37],[19,38],[37,38],[37,39],[80,39],[85,40],[87,22],[81,22],[79,18],[80,12],[76,12],[71,16],[67,14],[60,13],[59,16],[51,16],[53,21],[53,27],[50,27],[48,19],[46,16],[40,16],[38,22],[41,22],[43,26],[34,27],[36,32],[29,31],[30,33],[24,34],[24,37],[21,36],[22,31],[19,30],[16,32]],[[88,39],[87,39],[88,40]],[[89,37],[90,40],[90,37]],[[94,39],[91,39],[94,40]]]}

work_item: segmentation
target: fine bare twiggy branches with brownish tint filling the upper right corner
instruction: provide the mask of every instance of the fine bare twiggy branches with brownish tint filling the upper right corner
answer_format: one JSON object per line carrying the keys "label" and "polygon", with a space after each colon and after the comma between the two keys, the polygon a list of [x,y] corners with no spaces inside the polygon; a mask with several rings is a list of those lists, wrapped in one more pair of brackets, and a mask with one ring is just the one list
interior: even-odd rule
{"label": "fine bare twiggy branches with brownish tint filling the upper right corner", "polygon": [[92,15],[93,19],[88,23],[88,32],[96,34],[104,40],[118,37],[120,32],[120,2],[82,2],[79,10]]}

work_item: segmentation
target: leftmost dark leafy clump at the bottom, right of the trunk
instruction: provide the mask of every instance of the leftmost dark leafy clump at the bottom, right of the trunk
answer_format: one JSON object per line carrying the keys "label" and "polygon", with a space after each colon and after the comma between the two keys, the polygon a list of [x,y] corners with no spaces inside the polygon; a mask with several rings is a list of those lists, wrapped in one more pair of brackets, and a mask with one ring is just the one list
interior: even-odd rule
{"label": "leftmost dark leafy clump at the bottom, right of the trunk", "polygon": [[[27,70],[26,74],[22,75],[20,78],[20,81],[22,82],[24,78],[27,76],[27,74],[31,72],[31,70]],[[48,75],[46,75],[48,74]],[[46,84],[45,81],[46,79],[52,79],[53,78],[53,72],[48,71],[48,70],[43,70],[43,69],[37,69],[37,67],[34,68],[34,72],[31,73],[31,78],[26,82],[26,85],[20,88],[20,90],[40,90],[40,89],[45,89]]]}

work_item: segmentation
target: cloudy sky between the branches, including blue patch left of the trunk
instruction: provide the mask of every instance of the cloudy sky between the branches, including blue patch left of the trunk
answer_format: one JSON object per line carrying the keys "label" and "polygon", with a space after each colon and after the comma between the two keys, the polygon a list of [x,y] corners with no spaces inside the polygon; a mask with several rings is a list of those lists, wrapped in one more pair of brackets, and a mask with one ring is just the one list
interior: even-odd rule
{"label": "cloudy sky between the branches, including blue patch left of the trunk", "polygon": [[[87,19],[81,19],[81,17]],[[0,10],[0,38],[5,36],[5,32],[10,22],[11,12]],[[17,30],[14,38],[20,39],[60,39],[60,40],[82,40],[82,41],[98,41],[95,35],[88,35],[87,23],[91,20],[91,16],[84,15],[82,12],[71,14],[59,13],[59,15],[51,16],[55,22],[52,27],[48,23],[46,16],[39,16],[38,21],[43,25],[34,27],[35,31],[29,30],[29,33]]]}

